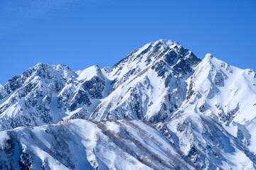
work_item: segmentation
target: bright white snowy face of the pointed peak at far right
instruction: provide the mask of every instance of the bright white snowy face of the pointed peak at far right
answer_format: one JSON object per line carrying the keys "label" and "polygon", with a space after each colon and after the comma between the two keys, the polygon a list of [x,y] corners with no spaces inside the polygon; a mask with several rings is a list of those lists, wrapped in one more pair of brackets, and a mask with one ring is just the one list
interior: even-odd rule
{"label": "bright white snowy face of the pointed peak at far right", "polygon": [[245,124],[246,120],[256,117],[255,78],[252,69],[238,69],[213,55],[206,55],[188,80],[187,101],[183,108],[197,106],[196,112],[212,113],[213,118],[225,125],[230,122]]}

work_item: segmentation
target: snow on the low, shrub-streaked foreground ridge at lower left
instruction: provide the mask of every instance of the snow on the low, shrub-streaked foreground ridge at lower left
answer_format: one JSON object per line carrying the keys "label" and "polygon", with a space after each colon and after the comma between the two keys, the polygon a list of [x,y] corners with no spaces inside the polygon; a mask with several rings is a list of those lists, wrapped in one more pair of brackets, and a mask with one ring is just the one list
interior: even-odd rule
{"label": "snow on the low, shrub-streaked foreground ridge at lower left", "polygon": [[[144,147],[149,148],[152,154],[156,154],[161,159],[171,161],[169,155],[176,153],[161,133],[142,122],[105,122],[105,125],[107,125],[107,130],[110,130],[113,135],[126,129],[129,135],[136,137],[139,142],[142,142]],[[139,125],[142,129],[132,128],[134,125]],[[122,130],[119,131],[118,129]],[[144,135],[149,136],[138,135],[141,130],[146,130],[147,133]],[[15,132],[18,134],[18,141],[21,142],[23,152],[34,155],[33,160],[36,160],[36,162],[27,159],[27,161],[32,161],[31,166],[33,168],[45,164],[50,169],[72,169],[71,167],[75,167],[75,169],[90,169],[91,167],[94,169],[96,167],[99,169],[151,169],[146,164],[139,162],[135,155],[132,154],[136,151],[137,157],[151,157],[149,153],[144,152],[143,149],[140,150],[139,147],[136,147],[136,145],[129,141],[129,138],[124,138],[123,147],[129,147],[129,149],[134,151],[125,152],[122,145],[111,138],[111,134],[105,135],[97,124],[87,120],[68,120],[54,125],[43,125],[35,128],[16,128]],[[1,133],[3,134],[3,132]],[[6,142],[7,138],[3,136],[0,136],[0,138],[2,142]],[[145,139],[149,139],[149,141],[145,141]],[[58,141],[62,141],[62,145],[67,145],[61,146]],[[160,143],[162,145],[159,145]],[[59,152],[58,149],[62,150]],[[171,153],[167,154],[166,150],[171,150]],[[17,158],[19,157],[18,150],[14,154],[16,154]],[[193,169],[181,157],[180,159],[184,166]],[[166,169],[166,166],[161,165],[154,159],[147,159],[147,161],[151,162],[155,167]],[[18,159],[14,163],[17,164],[17,162]],[[166,162],[166,164],[169,163]],[[174,166],[174,164],[169,166]]]}

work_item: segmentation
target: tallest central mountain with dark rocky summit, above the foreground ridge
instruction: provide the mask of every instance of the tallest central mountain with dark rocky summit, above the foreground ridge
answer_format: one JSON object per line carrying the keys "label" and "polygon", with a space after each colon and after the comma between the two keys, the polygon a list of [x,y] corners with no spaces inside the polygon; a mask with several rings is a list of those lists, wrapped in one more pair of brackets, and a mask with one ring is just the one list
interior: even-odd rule
{"label": "tallest central mountain with dark rocky summit, above the foreground ridge", "polygon": [[163,121],[186,99],[187,77],[200,60],[171,40],[159,40],[131,52],[106,76],[112,93],[90,116],[92,120]]}

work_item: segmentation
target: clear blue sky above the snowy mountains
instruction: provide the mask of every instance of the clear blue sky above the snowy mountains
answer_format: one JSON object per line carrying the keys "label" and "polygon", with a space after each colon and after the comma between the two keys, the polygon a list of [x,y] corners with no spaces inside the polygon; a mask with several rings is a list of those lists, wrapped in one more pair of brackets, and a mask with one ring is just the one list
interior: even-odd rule
{"label": "clear blue sky above the snowy mountains", "polygon": [[112,67],[159,39],[256,69],[256,1],[1,0],[0,84],[38,62]]}

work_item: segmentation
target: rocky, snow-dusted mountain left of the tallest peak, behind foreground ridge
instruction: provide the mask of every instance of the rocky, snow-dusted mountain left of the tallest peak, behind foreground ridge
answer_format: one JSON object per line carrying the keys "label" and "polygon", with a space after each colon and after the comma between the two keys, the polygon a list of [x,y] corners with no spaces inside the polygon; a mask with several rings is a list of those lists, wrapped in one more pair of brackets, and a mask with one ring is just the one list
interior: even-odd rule
{"label": "rocky, snow-dusted mountain left of the tallest peak, behind foreground ridge", "polygon": [[0,129],[86,118],[105,89],[105,78],[98,71],[80,81],[65,65],[40,63],[13,77],[0,89]]}

